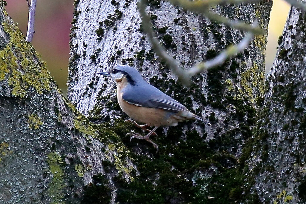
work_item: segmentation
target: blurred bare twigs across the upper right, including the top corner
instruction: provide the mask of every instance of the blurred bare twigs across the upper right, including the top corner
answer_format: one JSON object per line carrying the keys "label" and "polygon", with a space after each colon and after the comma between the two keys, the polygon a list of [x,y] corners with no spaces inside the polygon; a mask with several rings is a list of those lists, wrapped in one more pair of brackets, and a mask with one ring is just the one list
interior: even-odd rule
{"label": "blurred bare twigs across the upper right, including the top corner", "polygon": [[[177,61],[175,61],[172,57],[170,57],[166,50],[159,44],[159,41],[155,38],[154,31],[152,30],[152,24],[150,21],[150,17],[147,15],[146,8],[146,0],[141,0],[139,3],[139,11],[140,16],[142,18],[142,27],[144,31],[147,33],[147,37],[152,44],[152,47],[155,50],[155,53],[162,58],[169,65],[170,69],[178,76],[178,78],[182,81],[184,85],[190,84],[190,78],[200,72],[203,72],[207,69],[222,65],[227,59],[234,57],[239,52],[243,51],[250,43],[255,34],[263,34],[263,30],[257,26],[257,23],[250,25],[246,24],[242,21],[233,21],[227,19],[225,17],[219,16],[211,12],[209,9],[212,6],[217,4],[225,5],[231,3],[252,3],[257,2],[259,0],[199,0],[199,1],[188,1],[188,0],[168,0],[173,5],[181,6],[186,10],[190,10],[192,12],[201,13],[208,17],[210,20],[215,21],[217,23],[223,23],[232,28],[237,28],[239,30],[247,31],[247,35],[236,45],[229,46],[223,52],[221,52],[217,57],[208,60],[206,62],[199,63],[193,66],[191,69],[186,71],[183,69]],[[297,0],[285,0],[291,3],[293,6],[298,7],[304,11],[306,11],[306,4],[303,2],[299,2]]]}

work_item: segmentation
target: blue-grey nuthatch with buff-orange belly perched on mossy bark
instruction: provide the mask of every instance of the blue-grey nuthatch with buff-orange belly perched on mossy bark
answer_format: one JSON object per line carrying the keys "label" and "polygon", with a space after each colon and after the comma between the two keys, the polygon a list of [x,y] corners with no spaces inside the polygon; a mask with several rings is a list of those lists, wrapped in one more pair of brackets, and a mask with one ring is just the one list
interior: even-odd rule
{"label": "blue-grey nuthatch with buff-orange belly perched on mossy bark", "polygon": [[[97,74],[111,77],[114,80],[121,110],[133,120],[144,123],[145,125],[138,125],[132,121],[136,126],[149,132],[145,136],[134,133],[127,133],[126,136],[131,136],[130,141],[133,138],[148,141],[155,147],[156,153],[159,150],[158,145],[150,139],[150,136],[156,135],[155,130],[159,127],[176,126],[178,122],[189,119],[201,121],[209,127],[212,126],[202,117],[190,112],[180,102],[147,83],[133,67],[114,66],[108,72],[97,72]],[[149,130],[145,128],[147,126],[154,126],[154,128]]]}

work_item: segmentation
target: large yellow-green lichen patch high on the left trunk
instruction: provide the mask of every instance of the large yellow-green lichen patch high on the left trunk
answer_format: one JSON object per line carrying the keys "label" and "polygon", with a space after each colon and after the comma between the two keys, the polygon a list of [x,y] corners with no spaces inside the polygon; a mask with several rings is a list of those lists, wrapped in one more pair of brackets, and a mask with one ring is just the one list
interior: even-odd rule
{"label": "large yellow-green lichen patch high on the left trunk", "polygon": [[[30,87],[39,94],[50,91],[53,80],[30,43],[16,25],[2,22],[4,31],[9,35],[9,42],[0,50],[0,81],[7,79],[12,87],[11,94],[23,98]],[[17,64],[18,62],[18,64]]]}

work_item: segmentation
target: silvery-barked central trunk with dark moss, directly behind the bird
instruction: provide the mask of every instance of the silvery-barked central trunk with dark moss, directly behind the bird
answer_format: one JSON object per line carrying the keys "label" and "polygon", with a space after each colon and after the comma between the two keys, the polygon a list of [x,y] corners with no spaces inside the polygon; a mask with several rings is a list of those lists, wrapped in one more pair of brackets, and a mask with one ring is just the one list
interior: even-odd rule
{"label": "silvery-barked central trunk with dark moss, directly behind the bird", "polygon": [[[244,199],[244,175],[237,168],[244,141],[252,136],[257,101],[263,97],[264,53],[271,2],[216,7],[223,16],[251,23],[257,20],[265,35],[224,65],[193,78],[183,87],[155,56],[141,30],[137,1],[80,0],[75,2],[71,33],[68,98],[91,121],[112,124],[123,147],[136,165],[133,180],[119,176],[116,202],[227,203]],[[160,42],[186,69],[210,59],[244,36],[240,31],[211,23],[168,2],[149,1],[147,11]],[[159,154],[150,144],[132,141],[131,127],[123,120],[110,79],[96,76],[114,65],[136,67],[145,80],[214,124],[197,122],[159,130],[155,139]],[[104,126],[106,129],[110,125]],[[119,128],[118,128],[119,127]],[[139,131],[133,129],[134,131]],[[154,139],[154,138],[153,138]],[[103,151],[103,150],[102,150]],[[249,153],[249,152],[247,152]],[[248,156],[248,155],[247,155]],[[241,158],[242,163],[246,157]],[[95,193],[95,192],[94,192]],[[208,196],[215,199],[208,200]]]}

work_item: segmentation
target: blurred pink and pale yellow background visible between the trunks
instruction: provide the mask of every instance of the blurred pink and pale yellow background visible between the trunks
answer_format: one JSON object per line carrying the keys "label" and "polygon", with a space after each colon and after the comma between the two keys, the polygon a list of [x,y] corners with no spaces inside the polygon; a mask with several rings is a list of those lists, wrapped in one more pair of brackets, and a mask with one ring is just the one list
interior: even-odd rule
{"label": "blurred pink and pale yellow background visible between the trunks", "polygon": [[[6,10],[26,35],[28,6],[26,0],[7,0]],[[272,67],[277,51],[277,40],[290,6],[282,0],[274,0],[269,22],[266,50],[266,72]],[[69,60],[69,33],[73,17],[73,0],[39,0],[35,14],[35,34],[32,45],[39,52],[58,87],[67,94],[67,66]]]}

